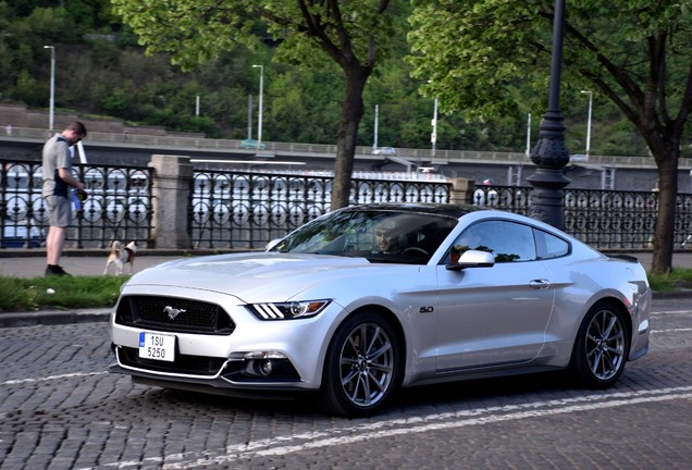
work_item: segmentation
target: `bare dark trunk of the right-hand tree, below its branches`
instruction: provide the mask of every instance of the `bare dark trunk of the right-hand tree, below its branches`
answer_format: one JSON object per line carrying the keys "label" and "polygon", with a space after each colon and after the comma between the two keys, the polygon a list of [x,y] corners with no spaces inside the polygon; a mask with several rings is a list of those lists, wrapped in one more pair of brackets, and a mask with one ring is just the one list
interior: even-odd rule
{"label": "bare dark trunk of the right-hand tree, below its branches", "polygon": [[[653,150],[652,150],[653,151]],[[666,273],[672,268],[672,247],[675,240],[676,199],[678,196],[679,140],[668,139],[660,150],[665,154],[654,153],[658,168],[658,213],[654,231],[652,252],[652,272]]]}

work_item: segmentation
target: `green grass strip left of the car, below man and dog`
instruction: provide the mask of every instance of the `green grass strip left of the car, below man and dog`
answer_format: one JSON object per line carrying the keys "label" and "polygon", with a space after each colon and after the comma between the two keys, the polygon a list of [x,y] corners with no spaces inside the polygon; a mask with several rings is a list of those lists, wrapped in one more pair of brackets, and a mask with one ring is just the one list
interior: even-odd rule
{"label": "green grass strip left of the car, below man and dog", "polygon": [[125,276],[0,277],[0,311],[111,307]]}

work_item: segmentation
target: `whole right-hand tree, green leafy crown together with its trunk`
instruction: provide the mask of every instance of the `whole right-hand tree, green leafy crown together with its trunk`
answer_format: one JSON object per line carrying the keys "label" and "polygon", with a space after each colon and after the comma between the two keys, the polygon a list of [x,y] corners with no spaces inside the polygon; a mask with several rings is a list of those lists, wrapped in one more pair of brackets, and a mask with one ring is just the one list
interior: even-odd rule
{"label": "whole right-hand tree, green leafy crown together with its trunk", "polygon": [[[518,119],[537,103],[518,98],[547,88],[553,73],[548,63],[558,57],[561,75],[553,82],[559,84],[563,96],[589,89],[617,107],[642,135],[658,168],[652,265],[656,272],[668,271],[678,161],[683,133],[690,136],[690,1],[437,0],[415,4],[409,34],[412,74],[429,81],[421,88],[440,98],[443,109],[465,110],[484,120]],[[553,33],[558,24],[554,5],[565,7],[559,55],[553,51],[558,37]],[[610,137],[619,143],[622,134]],[[607,143],[602,148],[608,149]]]}

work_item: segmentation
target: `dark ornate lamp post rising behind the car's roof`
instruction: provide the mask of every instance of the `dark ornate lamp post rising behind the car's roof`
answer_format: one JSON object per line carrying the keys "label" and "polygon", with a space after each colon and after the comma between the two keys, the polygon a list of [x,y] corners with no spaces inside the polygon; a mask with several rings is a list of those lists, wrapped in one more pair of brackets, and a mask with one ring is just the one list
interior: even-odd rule
{"label": "dark ornate lamp post rising behind the car's roof", "polygon": [[569,150],[565,145],[565,125],[559,109],[564,23],[565,0],[555,0],[548,109],[543,114],[539,141],[531,153],[537,170],[527,178],[534,187],[529,199],[529,215],[557,228],[565,225],[560,189],[570,183],[563,174],[563,168],[569,162]]}

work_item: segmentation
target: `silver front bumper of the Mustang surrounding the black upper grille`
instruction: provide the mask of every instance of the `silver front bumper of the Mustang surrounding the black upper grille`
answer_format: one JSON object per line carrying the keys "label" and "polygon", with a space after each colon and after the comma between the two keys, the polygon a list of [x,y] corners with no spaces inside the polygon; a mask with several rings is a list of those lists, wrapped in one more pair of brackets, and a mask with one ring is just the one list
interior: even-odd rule
{"label": "silver front bumper of the Mustang surrounding the black upper grille", "polygon": [[[111,317],[112,348],[116,359],[112,372],[129,374],[139,382],[165,383],[172,388],[188,389],[185,384],[189,384],[208,393],[319,389],[331,319],[341,311],[338,306],[332,305],[313,318],[262,321],[233,296],[185,288],[176,289],[175,296],[165,290],[152,290],[146,295],[165,298],[166,305],[178,306],[184,299],[219,306],[221,314],[230,318],[232,327],[200,333],[190,331],[189,326],[176,331],[172,324],[123,321],[119,307],[133,295],[124,294]],[[191,312],[185,312],[188,313]],[[140,358],[139,335],[143,332],[174,335],[174,361]],[[226,392],[223,394],[231,395]]]}

